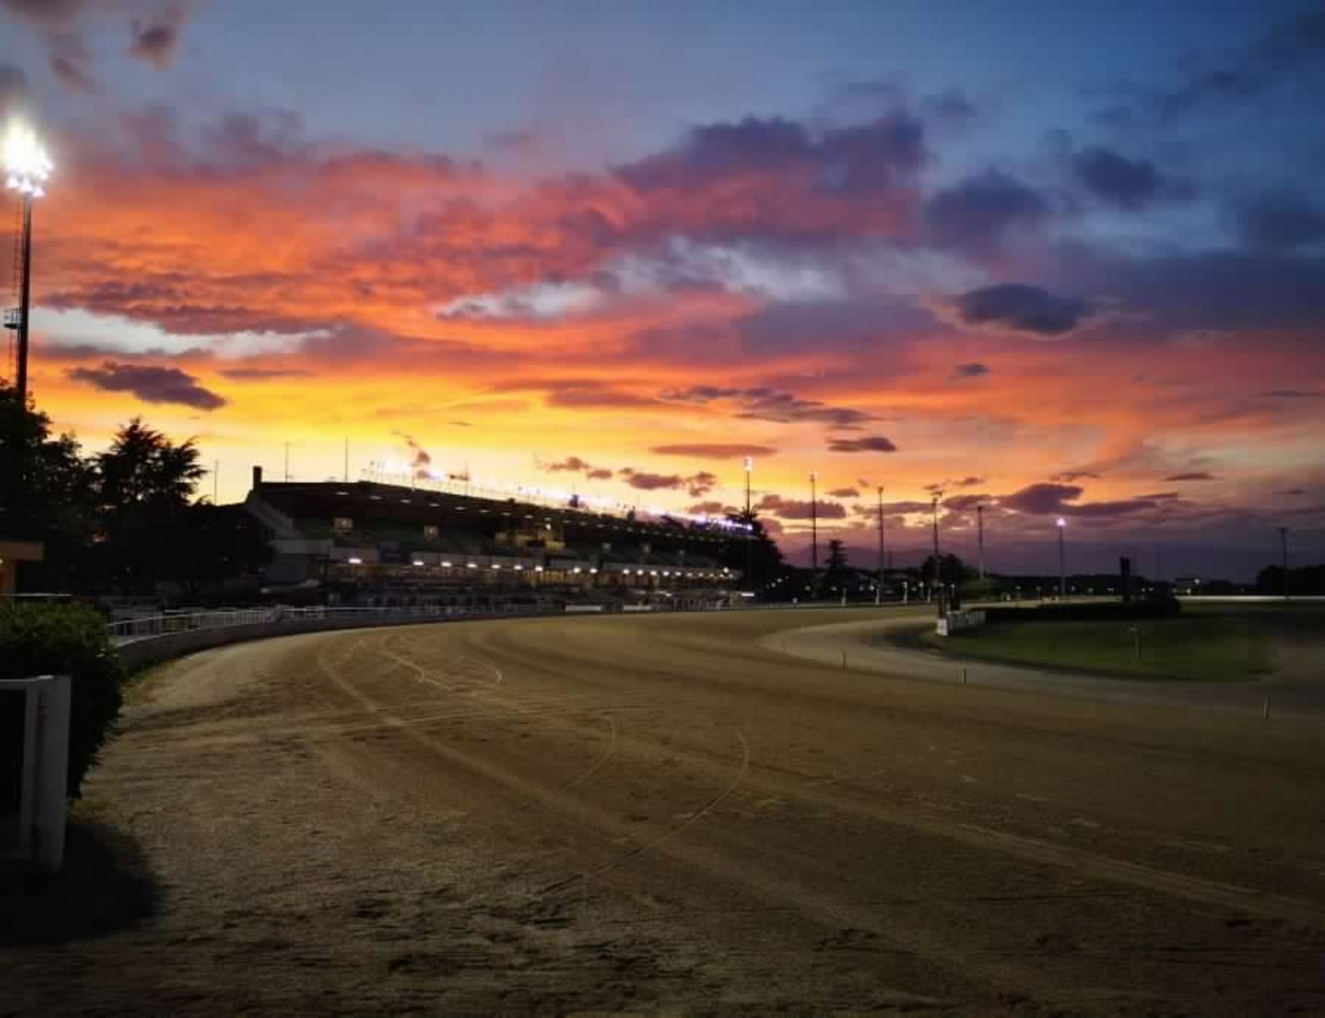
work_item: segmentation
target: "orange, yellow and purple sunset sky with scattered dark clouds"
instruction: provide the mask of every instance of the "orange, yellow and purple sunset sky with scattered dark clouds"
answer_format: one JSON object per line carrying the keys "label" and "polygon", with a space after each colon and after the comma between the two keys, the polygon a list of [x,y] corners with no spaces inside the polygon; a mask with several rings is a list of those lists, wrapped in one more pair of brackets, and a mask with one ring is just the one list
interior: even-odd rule
{"label": "orange, yellow and purple sunset sky with scattered dark clouds", "polygon": [[0,107],[38,405],[223,502],[286,442],[710,511],[749,454],[861,565],[878,486],[900,555],[941,490],[994,568],[1325,559],[1318,5],[0,0]]}

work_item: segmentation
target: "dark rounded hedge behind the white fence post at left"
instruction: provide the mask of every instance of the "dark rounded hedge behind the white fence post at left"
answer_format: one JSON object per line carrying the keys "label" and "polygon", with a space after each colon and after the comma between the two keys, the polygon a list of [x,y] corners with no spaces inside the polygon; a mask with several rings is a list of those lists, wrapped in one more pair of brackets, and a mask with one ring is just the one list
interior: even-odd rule
{"label": "dark rounded hedge behind the white fence post at left", "polygon": [[106,635],[106,620],[73,602],[0,604],[0,679],[69,675],[69,797],[78,798],[83,776],[119,716],[119,658]]}

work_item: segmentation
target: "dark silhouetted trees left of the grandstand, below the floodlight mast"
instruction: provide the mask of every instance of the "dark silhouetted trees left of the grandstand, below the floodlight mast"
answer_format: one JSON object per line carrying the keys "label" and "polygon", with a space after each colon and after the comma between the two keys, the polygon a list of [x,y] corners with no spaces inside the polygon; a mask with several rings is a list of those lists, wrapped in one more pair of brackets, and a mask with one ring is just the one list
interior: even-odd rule
{"label": "dark silhouetted trees left of the grandstand, below the floodlight mast", "polygon": [[186,598],[253,576],[269,560],[261,527],[241,507],[196,498],[207,471],[192,438],[172,442],[140,417],[87,454],[70,433],[0,381],[0,539],[40,541],[24,589]]}

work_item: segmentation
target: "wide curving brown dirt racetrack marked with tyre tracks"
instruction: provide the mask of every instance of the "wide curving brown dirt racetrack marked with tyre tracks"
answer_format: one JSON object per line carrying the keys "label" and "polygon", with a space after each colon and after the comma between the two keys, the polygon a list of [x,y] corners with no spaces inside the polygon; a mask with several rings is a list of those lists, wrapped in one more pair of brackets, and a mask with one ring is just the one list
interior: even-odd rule
{"label": "wide curving brown dirt racetrack marked with tyre tracks", "polygon": [[176,662],[87,789],[150,913],[11,931],[0,1014],[1325,1013],[1325,725],[758,642],[860,618]]}

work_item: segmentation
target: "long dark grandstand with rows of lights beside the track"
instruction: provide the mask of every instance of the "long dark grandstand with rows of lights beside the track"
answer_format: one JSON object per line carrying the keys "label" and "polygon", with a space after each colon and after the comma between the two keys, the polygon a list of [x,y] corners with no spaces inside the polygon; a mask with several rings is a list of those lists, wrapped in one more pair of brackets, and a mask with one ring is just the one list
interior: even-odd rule
{"label": "long dark grandstand with rows of lights beside the track", "polygon": [[712,600],[735,594],[741,541],[725,519],[604,512],[568,499],[350,483],[273,483],[253,470],[245,508],[276,556],[272,590],[333,602]]}

